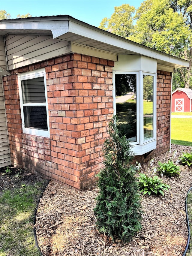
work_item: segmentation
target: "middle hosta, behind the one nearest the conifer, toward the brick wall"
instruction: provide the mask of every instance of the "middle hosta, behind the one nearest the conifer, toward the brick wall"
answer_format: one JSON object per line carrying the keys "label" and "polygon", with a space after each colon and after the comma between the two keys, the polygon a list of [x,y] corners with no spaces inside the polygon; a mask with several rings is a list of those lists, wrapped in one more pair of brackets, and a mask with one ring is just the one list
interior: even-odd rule
{"label": "middle hosta, behind the one nearest the conifer, toward the brick wall", "polygon": [[163,176],[174,177],[180,174],[180,167],[169,160],[167,163],[158,162],[159,166],[157,168],[158,172]]}

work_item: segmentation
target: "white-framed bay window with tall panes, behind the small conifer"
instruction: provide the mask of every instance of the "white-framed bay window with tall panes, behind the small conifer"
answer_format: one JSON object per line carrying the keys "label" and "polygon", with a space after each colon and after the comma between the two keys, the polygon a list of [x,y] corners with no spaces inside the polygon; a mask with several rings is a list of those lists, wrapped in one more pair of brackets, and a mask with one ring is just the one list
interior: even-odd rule
{"label": "white-framed bay window with tall panes, behind the small conifer", "polygon": [[133,145],[136,155],[156,148],[155,74],[114,71],[114,110],[118,129]]}

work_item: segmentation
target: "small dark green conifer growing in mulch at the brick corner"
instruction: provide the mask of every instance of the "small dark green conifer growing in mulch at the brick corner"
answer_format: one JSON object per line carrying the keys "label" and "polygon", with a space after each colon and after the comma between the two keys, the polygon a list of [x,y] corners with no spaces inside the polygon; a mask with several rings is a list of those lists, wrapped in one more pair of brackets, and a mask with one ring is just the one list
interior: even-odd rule
{"label": "small dark green conifer growing in mulch at the brick corner", "polygon": [[141,204],[136,168],[131,165],[134,153],[125,136],[120,136],[113,116],[104,142],[104,169],[98,174],[100,188],[94,209],[99,232],[129,242],[141,229]]}

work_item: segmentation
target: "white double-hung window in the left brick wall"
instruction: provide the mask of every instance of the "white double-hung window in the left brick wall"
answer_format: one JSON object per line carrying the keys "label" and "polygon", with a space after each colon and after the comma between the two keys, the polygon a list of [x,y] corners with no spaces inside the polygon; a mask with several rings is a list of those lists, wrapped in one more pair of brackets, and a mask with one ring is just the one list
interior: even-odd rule
{"label": "white double-hung window in the left brick wall", "polygon": [[45,70],[18,75],[23,132],[49,137]]}

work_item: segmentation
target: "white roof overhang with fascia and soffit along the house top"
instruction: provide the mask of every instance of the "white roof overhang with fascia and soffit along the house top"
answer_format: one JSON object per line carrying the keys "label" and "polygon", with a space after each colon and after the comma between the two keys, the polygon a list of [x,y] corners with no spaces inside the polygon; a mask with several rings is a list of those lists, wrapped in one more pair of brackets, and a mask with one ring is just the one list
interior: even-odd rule
{"label": "white roof overhang with fascia and soffit along the house top", "polygon": [[119,37],[68,15],[1,20],[0,35],[8,34],[52,35],[57,40],[72,42],[73,49],[79,46],[79,49],[87,47],[90,50],[99,50],[114,56],[114,60],[117,60],[116,56],[119,54],[143,55],[156,59],[158,68],[162,70],[165,66],[170,71],[189,67],[187,60]]}

